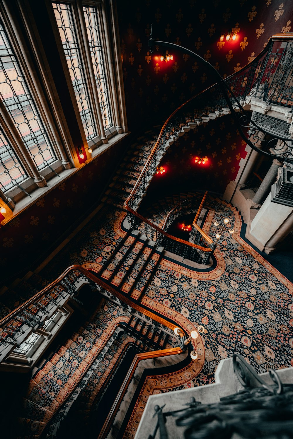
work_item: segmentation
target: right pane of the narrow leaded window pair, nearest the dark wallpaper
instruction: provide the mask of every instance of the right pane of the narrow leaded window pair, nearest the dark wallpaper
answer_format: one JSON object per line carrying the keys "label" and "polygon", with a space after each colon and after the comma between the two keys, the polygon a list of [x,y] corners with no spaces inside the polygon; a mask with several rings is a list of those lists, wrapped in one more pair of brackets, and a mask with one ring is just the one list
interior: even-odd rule
{"label": "right pane of the narrow leaded window pair, nearest the dark wallpaper", "polygon": [[98,88],[104,128],[107,130],[113,124],[109,102],[108,84],[105,74],[105,62],[103,58],[100,29],[98,24],[98,11],[94,7],[84,6],[83,13],[87,26],[87,37],[94,66],[94,77],[96,79]]}

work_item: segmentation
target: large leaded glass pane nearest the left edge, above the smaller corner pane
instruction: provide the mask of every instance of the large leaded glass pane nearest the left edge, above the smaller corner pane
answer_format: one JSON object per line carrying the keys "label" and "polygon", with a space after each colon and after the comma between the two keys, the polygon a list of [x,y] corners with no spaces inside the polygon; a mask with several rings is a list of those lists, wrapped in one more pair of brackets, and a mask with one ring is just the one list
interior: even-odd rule
{"label": "large leaded glass pane nearest the left edge, above the smaller corner pane", "polygon": [[[0,99],[11,116],[22,142],[29,150],[36,168],[40,170],[54,162],[56,157],[50,140],[1,22]],[[13,153],[11,157],[16,160]],[[5,167],[5,163],[3,165]]]}

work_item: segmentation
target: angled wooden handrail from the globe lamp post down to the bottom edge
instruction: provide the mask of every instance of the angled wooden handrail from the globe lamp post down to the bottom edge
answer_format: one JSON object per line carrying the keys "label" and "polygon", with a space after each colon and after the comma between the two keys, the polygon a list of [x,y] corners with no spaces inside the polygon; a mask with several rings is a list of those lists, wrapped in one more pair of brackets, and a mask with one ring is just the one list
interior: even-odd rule
{"label": "angled wooden handrail from the globe lamp post down to the bottom edge", "polygon": [[127,372],[126,377],[123,380],[122,385],[120,386],[118,395],[116,396],[114,403],[112,404],[112,407],[109,411],[108,416],[105,419],[105,422],[103,424],[103,427],[101,428],[101,432],[99,433],[97,439],[104,439],[109,434],[109,428],[112,426],[112,422],[114,421],[114,418],[117,414],[117,411],[120,407],[120,404],[122,403],[122,399],[124,398],[125,391],[128,388],[130,381],[133,378],[135,369],[137,368],[138,363],[141,360],[148,360],[150,358],[156,358],[156,357],[162,357],[162,356],[168,356],[168,355],[177,355],[182,353],[181,348],[171,348],[171,349],[162,349],[159,351],[152,351],[152,352],[145,352],[141,354],[136,354],[134,356],[134,359],[131,363],[131,366]]}

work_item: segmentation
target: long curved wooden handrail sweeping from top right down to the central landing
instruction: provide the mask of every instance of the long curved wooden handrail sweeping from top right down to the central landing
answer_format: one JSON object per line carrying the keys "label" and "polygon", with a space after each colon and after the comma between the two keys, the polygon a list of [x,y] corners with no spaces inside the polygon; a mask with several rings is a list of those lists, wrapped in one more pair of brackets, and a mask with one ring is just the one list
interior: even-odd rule
{"label": "long curved wooden handrail sweeping from top right down to the central landing", "polygon": [[[285,34],[285,35],[288,35],[288,34]],[[293,39],[293,33],[292,33],[292,32],[291,32],[290,37]],[[241,74],[241,72],[244,72],[247,68],[249,68],[250,65],[257,63],[257,61],[258,61],[258,60],[259,60],[259,59],[260,59],[260,58],[261,58],[261,57],[262,57],[262,56],[268,51],[269,43],[270,43],[271,41],[276,41],[276,40],[279,40],[279,39],[280,39],[280,40],[284,39],[284,38],[283,38],[283,34],[275,34],[275,35],[271,36],[271,38],[270,38],[268,44],[266,45],[266,47],[264,47],[264,49],[260,52],[260,54],[258,54],[258,55],[253,59],[253,61],[251,61],[250,63],[248,63],[248,64],[246,64],[244,67],[242,67],[240,70],[238,70],[238,72],[234,72],[234,73],[232,73],[231,75],[227,76],[227,77],[224,79],[224,83],[227,83],[230,79],[232,79],[232,78],[235,77],[235,76],[239,76],[239,74]],[[205,61],[205,60],[203,60],[203,61],[204,61],[204,62],[207,62],[207,61]],[[207,62],[207,64],[209,64],[209,63]],[[135,210],[131,209],[130,206],[129,206],[129,202],[130,202],[132,196],[134,195],[134,193],[136,192],[137,187],[138,187],[139,184],[141,183],[141,180],[142,180],[142,178],[143,178],[143,176],[144,176],[144,173],[145,173],[145,171],[146,171],[146,169],[147,169],[149,163],[151,162],[152,157],[154,156],[154,154],[155,154],[155,152],[156,152],[156,149],[157,149],[158,146],[159,146],[159,143],[160,143],[161,138],[162,138],[162,136],[163,136],[163,132],[164,132],[166,126],[168,125],[168,123],[170,122],[170,120],[171,120],[171,119],[173,118],[173,116],[174,116],[177,112],[179,112],[179,111],[181,110],[181,108],[183,108],[186,104],[188,104],[190,101],[192,101],[193,99],[195,99],[195,98],[198,97],[199,95],[201,95],[201,94],[207,92],[208,90],[213,89],[213,87],[215,87],[217,84],[218,84],[218,83],[214,83],[213,85],[207,87],[205,90],[203,90],[203,91],[201,91],[200,93],[196,94],[195,96],[189,98],[186,102],[184,102],[184,103],[181,104],[176,110],[174,110],[174,112],[168,117],[168,119],[166,120],[166,122],[163,124],[163,127],[162,127],[162,129],[161,129],[161,131],[160,131],[160,133],[159,133],[158,140],[156,141],[156,144],[154,145],[154,148],[152,149],[152,152],[151,152],[151,154],[149,155],[148,160],[145,162],[145,166],[144,166],[143,169],[141,170],[140,176],[138,177],[136,183],[134,184],[134,187],[133,187],[132,191],[130,192],[129,196],[127,197],[127,199],[126,199],[125,202],[124,202],[124,206],[125,206],[125,208],[126,208],[126,210],[127,210],[128,212],[130,212],[131,214],[135,215],[138,219],[140,219],[140,220],[143,221],[144,223],[147,223],[148,225],[150,225],[150,226],[151,226],[154,230],[156,230],[157,232],[164,234],[166,237],[168,237],[168,238],[170,238],[170,239],[172,239],[172,240],[174,240],[174,241],[177,241],[177,242],[180,242],[180,243],[184,243],[184,244],[186,244],[186,245],[188,245],[188,246],[190,246],[190,247],[198,248],[199,250],[201,250],[201,251],[203,251],[203,252],[211,252],[212,249],[204,248],[204,247],[201,247],[201,246],[199,246],[199,245],[193,244],[192,242],[189,242],[189,241],[183,241],[183,240],[181,240],[180,238],[177,238],[177,237],[172,236],[172,235],[170,235],[170,234],[166,234],[166,232],[164,232],[162,229],[159,229],[159,227],[157,227],[155,224],[151,223],[150,221],[148,221],[148,219],[144,218],[144,217],[141,216],[139,213],[137,213]],[[203,235],[203,236],[204,236],[204,235]],[[207,236],[207,235],[206,235],[206,236]],[[205,237],[205,238],[206,238],[206,237]],[[210,238],[208,238],[208,240],[210,241]],[[212,241],[212,242],[213,242],[213,241]]]}

